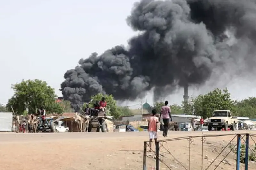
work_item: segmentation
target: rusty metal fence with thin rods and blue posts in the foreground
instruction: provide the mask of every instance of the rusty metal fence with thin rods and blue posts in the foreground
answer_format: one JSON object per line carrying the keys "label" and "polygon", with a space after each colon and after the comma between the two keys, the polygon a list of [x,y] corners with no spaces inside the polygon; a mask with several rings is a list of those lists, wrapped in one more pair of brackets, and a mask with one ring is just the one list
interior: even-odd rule
{"label": "rusty metal fence with thin rods and blue posts in the foreground", "polygon": [[[153,140],[151,152],[145,141],[143,170],[216,170],[228,169],[227,166],[248,170],[248,161],[256,160],[255,141],[256,134],[248,133],[177,137],[156,143]],[[250,170],[256,169],[256,163],[250,166]]]}

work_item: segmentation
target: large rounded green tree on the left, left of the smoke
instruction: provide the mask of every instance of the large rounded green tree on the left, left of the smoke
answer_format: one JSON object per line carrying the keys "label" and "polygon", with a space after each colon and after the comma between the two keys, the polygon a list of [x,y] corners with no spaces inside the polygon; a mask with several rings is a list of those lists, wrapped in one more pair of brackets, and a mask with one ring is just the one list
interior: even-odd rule
{"label": "large rounded green tree on the left, left of the smoke", "polygon": [[7,107],[16,114],[22,115],[28,108],[28,113],[35,114],[43,106],[47,113],[62,113],[62,107],[55,102],[54,89],[42,80],[22,80],[12,85],[14,95],[9,99]]}

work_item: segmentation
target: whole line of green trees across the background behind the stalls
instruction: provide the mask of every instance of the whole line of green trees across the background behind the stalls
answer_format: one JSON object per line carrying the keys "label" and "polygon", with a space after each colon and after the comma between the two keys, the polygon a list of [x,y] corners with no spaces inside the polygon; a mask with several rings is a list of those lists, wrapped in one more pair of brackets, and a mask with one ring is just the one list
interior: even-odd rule
{"label": "whole line of green trees across the background behind the stalls", "polygon": [[[6,106],[0,104],[0,112],[14,112],[19,115],[35,114],[40,106],[43,106],[47,113],[61,114],[64,112],[74,112],[71,103],[68,100],[56,102],[56,94],[52,87],[42,80],[22,80],[21,83],[12,85],[14,95],[8,100]],[[90,107],[96,100],[100,101],[102,97],[108,102],[108,114],[118,118],[120,116],[133,115],[129,107],[117,106],[116,100],[112,95],[96,94],[91,97]],[[148,112],[155,108],[158,113],[164,102],[156,102]],[[80,111],[86,107],[86,103],[80,107]],[[172,114],[198,115],[203,118],[211,117],[213,110],[231,110],[235,116],[255,118],[256,115],[256,98],[250,97],[241,101],[232,100],[228,89],[215,89],[207,94],[201,94],[189,98],[188,102],[182,102],[181,105],[173,104],[171,107]],[[81,111],[82,112],[82,111]]]}

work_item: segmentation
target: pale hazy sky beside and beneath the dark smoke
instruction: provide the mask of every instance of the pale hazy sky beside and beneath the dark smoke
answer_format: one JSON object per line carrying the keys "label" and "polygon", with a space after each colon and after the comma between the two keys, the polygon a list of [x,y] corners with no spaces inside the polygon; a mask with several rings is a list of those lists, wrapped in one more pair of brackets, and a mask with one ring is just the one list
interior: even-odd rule
{"label": "pale hazy sky beside and beneath the dark smoke", "polygon": [[[137,34],[125,21],[135,1],[0,1],[0,103],[6,104],[13,95],[11,84],[22,79],[47,81],[61,96],[64,73],[73,69],[80,58],[92,52],[101,54],[115,45],[127,45],[127,40]],[[253,84],[239,79],[220,87],[228,86],[233,98],[243,99],[256,95]],[[205,86],[189,93],[208,90],[209,86]],[[152,103],[151,95],[147,99]],[[168,100],[180,103],[182,90]]]}

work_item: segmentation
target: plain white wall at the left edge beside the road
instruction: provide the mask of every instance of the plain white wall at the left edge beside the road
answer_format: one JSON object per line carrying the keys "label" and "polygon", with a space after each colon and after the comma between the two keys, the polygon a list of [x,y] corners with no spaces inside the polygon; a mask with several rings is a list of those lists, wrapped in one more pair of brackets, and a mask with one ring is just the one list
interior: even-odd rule
{"label": "plain white wall at the left edge beside the road", "polygon": [[0,131],[12,131],[12,113],[0,113]]}

